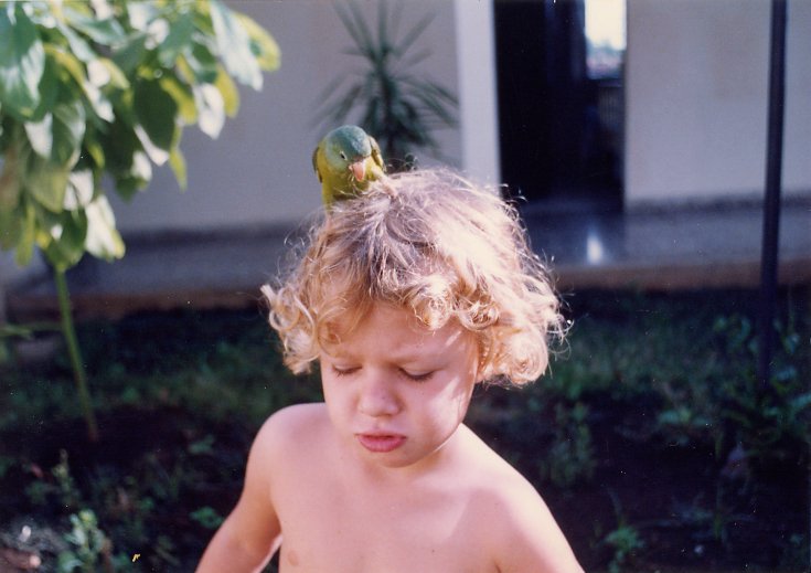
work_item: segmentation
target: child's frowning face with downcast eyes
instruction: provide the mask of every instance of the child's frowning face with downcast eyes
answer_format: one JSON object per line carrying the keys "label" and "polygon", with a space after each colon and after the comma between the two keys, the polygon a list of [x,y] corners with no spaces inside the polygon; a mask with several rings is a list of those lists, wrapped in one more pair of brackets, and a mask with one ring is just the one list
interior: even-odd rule
{"label": "child's frowning face with downcast eyes", "polygon": [[474,337],[456,322],[431,331],[406,310],[372,308],[321,353],[330,420],[339,438],[374,465],[429,464],[467,413]]}

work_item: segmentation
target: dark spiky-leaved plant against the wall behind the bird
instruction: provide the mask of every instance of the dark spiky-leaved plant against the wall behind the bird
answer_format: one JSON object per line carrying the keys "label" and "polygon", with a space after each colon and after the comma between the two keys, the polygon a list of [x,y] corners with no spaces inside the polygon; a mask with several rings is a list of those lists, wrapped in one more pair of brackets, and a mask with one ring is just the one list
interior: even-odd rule
{"label": "dark spiky-leaved plant against the wall behind the bird", "polygon": [[426,15],[398,38],[404,6],[396,3],[390,14],[388,3],[381,3],[376,35],[363,13],[366,4],[363,9],[356,3],[349,3],[346,9],[337,7],[354,42],[346,53],[363,59],[365,68],[349,85],[346,76],[341,75],[324,89],[324,110],[320,115],[340,124],[360,108],[359,125],[374,135],[384,158],[395,160],[395,167],[413,161],[415,149],[428,148],[438,155],[434,131],[457,124],[456,96],[441,84],[412,72],[430,55],[427,50],[413,53],[412,49],[434,17]]}

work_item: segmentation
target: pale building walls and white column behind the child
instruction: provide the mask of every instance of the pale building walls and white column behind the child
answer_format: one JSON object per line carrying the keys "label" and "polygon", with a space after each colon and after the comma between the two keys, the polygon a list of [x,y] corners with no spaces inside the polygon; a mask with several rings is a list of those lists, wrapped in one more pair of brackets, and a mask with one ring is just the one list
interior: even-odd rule
{"label": "pale building walls and white column behind the child", "polygon": [[[509,34],[497,30],[495,13],[502,3],[521,1],[409,0],[402,11],[401,30],[434,14],[420,38],[420,47],[430,55],[418,72],[459,98],[459,127],[439,134],[447,161],[490,182],[502,181],[495,35]],[[168,168],[160,168],[150,188],[131,203],[115,198],[125,238],[290,227],[319,208],[310,165],[326,130],[312,121],[319,96],[337,77],[355,73],[362,62],[345,53],[351,40],[331,3],[232,4],[274,35],[281,49],[281,67],[266,75],[260,93],[241,92],[239,114],[226,121],[220,139],[186,130],[185,192],[179,192]],[[372,23],[377,6],[378,0],[362,3]],[[788,6],[783,194],[808,197],[811,0]],[[768,0],[627,0],[623,209],[751,201],[762,195],[769,26]],[[521,91],[522,84],[511,88]],[[423,161],[430,162],[430,158]],[[28,272],[42,272],[42,265]],[[8,253],[0,254],[0,288],[24,275]]]}

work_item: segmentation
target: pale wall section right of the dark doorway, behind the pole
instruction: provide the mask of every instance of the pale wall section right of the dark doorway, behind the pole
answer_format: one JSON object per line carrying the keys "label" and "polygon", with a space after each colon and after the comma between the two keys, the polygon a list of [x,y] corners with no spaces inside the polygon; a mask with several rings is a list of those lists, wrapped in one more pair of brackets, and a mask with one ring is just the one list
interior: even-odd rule
{"label": "pale wall section right of the dark doorway, behind the pole", "polygon": [[[783,190],[811,191],[811,1],[789,2]],[[626,202],[762,195],[770,2],[629,0]]]}

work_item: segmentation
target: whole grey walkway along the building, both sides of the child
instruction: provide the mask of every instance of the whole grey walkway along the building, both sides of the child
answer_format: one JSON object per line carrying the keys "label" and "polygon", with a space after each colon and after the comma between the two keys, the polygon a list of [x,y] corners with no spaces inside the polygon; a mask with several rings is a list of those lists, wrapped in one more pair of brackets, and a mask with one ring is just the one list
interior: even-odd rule
{"label": "whole grey walkway along the building, both sides of the child", "polygon": [[[757,205],[685,208],[621,214],[523,212],[533,247],[558,288],[675,290],[755,288],[760,279],[762,212]],[[281,231],[130,238],[114,264],[85,257],[68,273],[78,318],[145,309],[256,306],[258,287],[288,251]],[[780,283],[811,284],[811,199],[786,201],[780,221]],[[50,277],[8,293],[13,321],[51,319]]]}

